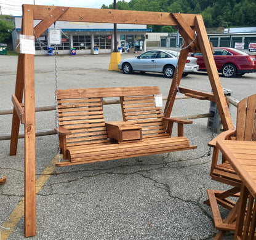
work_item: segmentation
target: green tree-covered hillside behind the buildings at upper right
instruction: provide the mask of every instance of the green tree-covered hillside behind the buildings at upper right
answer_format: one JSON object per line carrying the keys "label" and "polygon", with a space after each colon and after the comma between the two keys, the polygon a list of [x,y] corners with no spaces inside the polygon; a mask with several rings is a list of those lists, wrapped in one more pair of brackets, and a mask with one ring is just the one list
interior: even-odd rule
{"label": "green tree-covered hillside behind the buildings at upper right", "polygon": [[[113,4],[103,4],[102,9],[113,9]],[[256,26],[255,0],[122,0],[116,2],[116,9],[201,14],[206,28]],[[170,27],[148,27],[153,31],[172,30]]]}

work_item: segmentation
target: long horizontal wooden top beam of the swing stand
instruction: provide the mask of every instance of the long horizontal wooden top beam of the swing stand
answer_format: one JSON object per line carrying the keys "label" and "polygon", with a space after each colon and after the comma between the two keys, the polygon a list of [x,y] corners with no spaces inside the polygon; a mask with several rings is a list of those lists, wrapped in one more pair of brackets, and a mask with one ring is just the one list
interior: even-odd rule
{"label": "long horizontal wooden top beam of the swing stand", "polygon": [[[43,20],[57,6],[27,5],[34,9],[34,20]],[[65,10],[66,7],[63,7]],[[194,14],[182,14],[186,25],[195,26]],[[97,22],[97,23],[127,23],[147,25],[172,25],[178,26],[172,14],[166,12],[142,12],[134,10],[114,9],[85,9],[81,7],[68,7],[58,21],[70,22]]]}

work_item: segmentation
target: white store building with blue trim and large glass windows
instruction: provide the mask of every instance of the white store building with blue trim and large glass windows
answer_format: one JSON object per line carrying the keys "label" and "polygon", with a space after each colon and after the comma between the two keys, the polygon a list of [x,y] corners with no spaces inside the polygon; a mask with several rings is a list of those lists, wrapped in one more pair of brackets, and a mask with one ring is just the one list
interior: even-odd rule
{"label": "white store building with blue trim and large glass windows", "polygon": [[[22,17],[14,17],[15,30],[12,32],[12,41],[19,39]],[[34,20],[34,26],[40,21]],[[87,23],[57,21],[49,29],[61,30],[61,44],[49,44],[49,30],[36,38],[36,55],[48,54],[49,47],[53,47],[58,54],[70,54],[76,49],[76,54],[93,54],[97,47],[99,54],[108,54],[114,49],[113,23]],[[146,33],[152,31],[146,25],[117,24],[117,41],[119,50],[128,51],[146,50]]]}

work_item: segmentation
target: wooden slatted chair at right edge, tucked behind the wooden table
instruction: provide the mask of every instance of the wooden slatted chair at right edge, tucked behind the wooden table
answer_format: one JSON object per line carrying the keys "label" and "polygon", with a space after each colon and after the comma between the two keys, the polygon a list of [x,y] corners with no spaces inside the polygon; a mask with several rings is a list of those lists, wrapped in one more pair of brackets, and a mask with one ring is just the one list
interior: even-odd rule
{"label": "wooden slatted chair at right edge, tucked behind the wooden table", "polygon": [[[218,164],[219,150],[216,143],[220,139],[256,141],[255,110],[256,94],[241,100],[238,103],[236,129],[226,130],[208,143],[209,146],[214,147],[212,166],[210,168],[212,180],[233,186],[233,188],[227,191],[207,190],[209,200],[205,201],[205,203],[210,205],[215,228],[220,230],[215,239],[222,239],[226,231],[234,231],[239,204],[238,202],[231,201],[230,197],[238,197],[241,191],[241,179],[230,163],[226,161],[225,156],[222,156],[222,163]],[[218,205],[230,210],[227,218],[222,219]]]}

